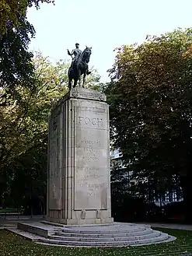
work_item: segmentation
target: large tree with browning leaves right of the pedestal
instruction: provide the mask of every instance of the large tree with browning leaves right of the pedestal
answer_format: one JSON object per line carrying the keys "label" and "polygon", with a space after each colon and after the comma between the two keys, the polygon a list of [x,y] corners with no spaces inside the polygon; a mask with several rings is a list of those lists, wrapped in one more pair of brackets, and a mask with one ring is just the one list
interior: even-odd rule
{"label": "large tree with browning leaves right of the pedestal", "polygon": [[186,216],[192,199],[191,45],[192,30],[178,29],[118,48],[106,88],[112,139],[127,167],[157,191],[179,177]]}

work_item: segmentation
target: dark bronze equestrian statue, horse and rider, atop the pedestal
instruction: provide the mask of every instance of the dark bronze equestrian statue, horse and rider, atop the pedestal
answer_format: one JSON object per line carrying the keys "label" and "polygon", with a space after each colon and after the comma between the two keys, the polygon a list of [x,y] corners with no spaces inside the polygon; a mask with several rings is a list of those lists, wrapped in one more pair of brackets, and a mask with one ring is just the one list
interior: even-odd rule
{"label": "dark bronze equestrian statue, horse and rider, atop the pedestal", "polygon": [[[79,81],[79,87],[81,87],[81,76],[83,74],[82,87],[85,88],[86,75],[89,75],[89,60],[92,54],[92,47],[86,47],[84,51],[79,49],[79,44],[75,44],[75,49],[68,51],[68,55],[72,57],[72,65],[68,69],[68,88],[72,89],[72,80],[74,80],[73,88],[77,86]],[[74,57],[73,57],[74,56]]]}

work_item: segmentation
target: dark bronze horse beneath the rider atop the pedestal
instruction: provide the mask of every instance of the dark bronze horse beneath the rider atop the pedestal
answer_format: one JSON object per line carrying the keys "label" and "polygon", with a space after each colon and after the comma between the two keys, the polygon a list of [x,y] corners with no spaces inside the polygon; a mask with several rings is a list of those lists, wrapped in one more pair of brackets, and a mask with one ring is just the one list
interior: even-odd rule
{"label": "dark bronze horse beneath the rider atop the pedestal", "polygon": [[[81,76],[83,74],[82,87],[85,88],[86,75],[88,72],[88,63],[92,54],[92,47],[86,47],[84,51],[79,55],[79,58],[68,69],[68,88],[72,89],[72,80],[74,80],[73,88],[77,86],[79,81],[79,87],[81,87]],[[88,73],[89,74],[89,73]]]}

